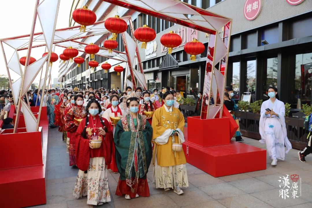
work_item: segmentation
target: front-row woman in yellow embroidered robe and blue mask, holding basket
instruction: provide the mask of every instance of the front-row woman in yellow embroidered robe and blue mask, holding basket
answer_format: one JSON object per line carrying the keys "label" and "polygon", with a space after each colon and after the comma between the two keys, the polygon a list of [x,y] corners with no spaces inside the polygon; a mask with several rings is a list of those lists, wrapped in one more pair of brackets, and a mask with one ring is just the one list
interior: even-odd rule
{"label": "front-row woman in yellow embroidered robe and blue mask, holding basket", "polygon": [[181,187],[188,187],[186,159],[182,151],[173,151],[173,143],[184,142],[184,117],[179,109],[173,107],[173,93],[163,90],[164,105],[155,110],[152,128],[152,142],[156,144],[153,152],[153,183],[165,191],[173,189],[183,194]]}

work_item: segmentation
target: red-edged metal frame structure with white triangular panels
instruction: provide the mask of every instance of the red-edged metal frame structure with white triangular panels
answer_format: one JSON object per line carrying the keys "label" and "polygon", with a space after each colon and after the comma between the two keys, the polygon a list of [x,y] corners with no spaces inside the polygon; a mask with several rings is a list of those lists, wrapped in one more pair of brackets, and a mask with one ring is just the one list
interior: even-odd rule
{"label": "red-edged metal frame structure with white triangular panels", "polygon": [[[24,117],[27,119],[26,128],[27,131],[37,131],[39,125],[39,119],[41,110],[39,110],[38,119],[33,116],[29,107],[24,102],[23,97],[26,94],[28,87],[35,80],[36,76],[41,70],[40,76],[40,89],[44,92],[46,89],[47,79],[51,79],[51,68],[46,62],[49,63],[50,55],[53,51],[53,47],[61,46],[76,47],[80,52],[83,51],[84,43],[87,37],[101,36],[105,33],[109,33],[104,27],[103,22],[95,22],[93,25],[87,26],[85,32],[80,32],[79,26],[67,27],[62,29],[55,29],[57,13],[60,0],[36,0],[36,7],[34,12],[33,24],[31,33],[29,35],[16,36],[10,38],[1,39],[2,52],[5,56],[5,63],[7,66],[7,72],[9,75],[10,87],[12,88],[13,97],[17,103],[17,118],[23,109]],[[104,2],[112,3],[118,6],[126,7],[136,10],[154,17],[162,18],[186,27],[206,32],[210,34],[208,44],[208,55],[206,62],[206,75],[203,87],[203,100],[202,100],[202,113],[201,119],[221,117],[223,96],[222,92],[225,85],[225,75],[227,70],[227,57],[230,42],[231,23],[232,20],[217,15],[215,13],[206,11],[204,9],[195,7],[193,5],[181,2],[179,0],[102,0]],[[40,3],[39,3],[40,2]],[[48,12],[47,12],[48,11]],[[55,17],[55,18],[53,18]],[[34,33],[34,27],[36,25],[37,18],[41,23],[42,32]],[[126,53],[114,51],[113,54],[106,54],[105,48],[100,49],[97,55],[107,58],[128,62],[128,68],[126,74],[131,75],[131,81],[134,88],[140,84],[146,89],[146,81],[144,78],[144,72],[142,63],[139,56],[139,49],[137,41],[134,38],[134,29],[132,25],[131,17],[121,17],[126,22],[129,22],[131,29],[131,36],[124,32],[122,35]],[[53,26],[53,27],[52,27]],[[221,35],[220,35],[221,33]],[[24,39],[29,37],[29,39]],[[44,43],[41,43],[44,41]],[[39,42],[39,44],[37,44]],[[7,62],[6,49],[3,48],[3,43],[14,49],[14,53],[9,62]],[[27,44],[27,45],[26,45]],[[32,48],[38,48],[46,46],[48,56],[44,56],[34,62],[32,65],[28,65],[29,57]],[[22,70],[19,60],[19,51],[27,50],[27,65]],[[115,57],[112,57],[115,56]],[[134,65],[138,63],[138,70],[135,70]],[[43,66],[46,66],[44,71]],[[217,67],[217,68],[216,68]],[[10,79],[10,70],[15,71],[21,76],[20,79],[12,83]],[[43,75],[44,74],[44,75]],[[43,76],[42,76],[43,75]],[[127,77],[125,78],[125,82]],[[50,82],[50,81],[49,81]],[[136,83],[138,82],[138,83]],[[43,97],[43,96],[42,96]],[[214,103],[210,104],[210,100],[213,98]],[[43,99],[43,98],[41,98]],[[22,108],[23,106],[23,108]],[[42,107],[42,102],[40,109]],[[14,132],[17,132],[18,119],[16,119]]]}

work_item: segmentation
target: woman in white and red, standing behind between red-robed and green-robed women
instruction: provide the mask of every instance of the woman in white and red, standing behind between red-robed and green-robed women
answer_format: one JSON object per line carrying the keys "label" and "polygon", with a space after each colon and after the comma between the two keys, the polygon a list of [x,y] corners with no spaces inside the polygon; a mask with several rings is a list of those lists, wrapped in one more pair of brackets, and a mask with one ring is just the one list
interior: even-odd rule
{"label": "woman in white and red, standing behind between red-robed and green-robed women", "polygon": [[[124,115],[124,111],[119,108],[119,101],[118,101],[118,96],[117,95],[112,95],[110,96],[110,103],[112,106],[108,109],[105,110],[103,113],[102,117],[108,120],[112,126],[112,131],[113,134],[115,134],[115,126],[116,124],[111,122],[110,117],[115,118]],[[112,152],[112,162],[111,164],[108,164],[108,169],[111,169],[114,173],[118,172],[116,161],[115,161],[115,147],[113,145],[113,152]]]}

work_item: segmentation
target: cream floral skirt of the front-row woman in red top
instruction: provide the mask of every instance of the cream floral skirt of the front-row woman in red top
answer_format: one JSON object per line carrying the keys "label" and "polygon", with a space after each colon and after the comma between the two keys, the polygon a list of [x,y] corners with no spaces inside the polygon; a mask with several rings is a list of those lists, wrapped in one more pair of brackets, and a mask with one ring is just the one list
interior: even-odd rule
{"label": "cream floral skirt of the front-row woman in red top", "polygon": [[104,157],[90,158],[87,173],[79,170],[73,196],[77,199],[87,196],[87,204],[91,205],[110,201],[107,167]]}

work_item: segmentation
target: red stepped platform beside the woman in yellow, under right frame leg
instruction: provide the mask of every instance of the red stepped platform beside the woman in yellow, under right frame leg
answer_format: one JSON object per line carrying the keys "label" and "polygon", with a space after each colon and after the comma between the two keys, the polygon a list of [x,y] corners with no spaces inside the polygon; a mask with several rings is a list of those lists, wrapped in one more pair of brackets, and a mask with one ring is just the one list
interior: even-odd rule
{"label": "red stepped platform beside the woman in yellow, under right frame leg", "polygon": [[237,125],[226,108],[223,115],[221,119],[188,117],[183,143],[186,161],[213,177],[265,170],[266,150],[230,141]]}

